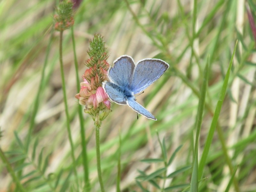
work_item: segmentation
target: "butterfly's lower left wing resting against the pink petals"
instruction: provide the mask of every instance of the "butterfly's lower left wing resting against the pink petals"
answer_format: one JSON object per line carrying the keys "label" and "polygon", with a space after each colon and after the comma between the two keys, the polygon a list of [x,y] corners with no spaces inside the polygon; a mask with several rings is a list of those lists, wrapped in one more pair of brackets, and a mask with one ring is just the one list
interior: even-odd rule
{"label": "butterfly's lower left wing resting against the pink petals", "polygon": [[111,99],[111,101],[114,101],[117,104],[126,105],[126,99],[124,97],[124,92],[122,91],[122,88],[108,81],[103,82],[102,87],[108,94],[108,97]]}

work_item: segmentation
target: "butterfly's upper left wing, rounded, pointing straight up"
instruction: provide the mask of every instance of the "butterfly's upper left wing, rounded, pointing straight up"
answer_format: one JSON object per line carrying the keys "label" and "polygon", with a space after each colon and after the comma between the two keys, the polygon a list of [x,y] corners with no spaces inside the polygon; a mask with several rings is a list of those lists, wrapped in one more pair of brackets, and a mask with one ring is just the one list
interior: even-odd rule
{"label": "butterfly's upper left wing, rounded, pointing straight up", "polygon": [[132,82],[135,64],[130,56],[123,55],[114,61],[114,66],[109,69],[110,81],[121,87],[128,87]]}

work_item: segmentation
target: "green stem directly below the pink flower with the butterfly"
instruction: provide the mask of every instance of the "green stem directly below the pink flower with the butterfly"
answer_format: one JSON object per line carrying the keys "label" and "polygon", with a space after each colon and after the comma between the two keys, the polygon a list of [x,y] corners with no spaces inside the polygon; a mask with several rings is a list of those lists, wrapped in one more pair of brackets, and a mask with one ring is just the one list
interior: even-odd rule
{"label": "green stem directly below the pink flower with the butterfly", "polygon": [[98,171],[98,178],[100,182],[100,189],[101,192],[105,192],[102,176],[101,176],[101,168],[100,168],[100,127],[96,126],[95,130],[95,137],[96,137],[96,156],[97,156],[97,171]]}

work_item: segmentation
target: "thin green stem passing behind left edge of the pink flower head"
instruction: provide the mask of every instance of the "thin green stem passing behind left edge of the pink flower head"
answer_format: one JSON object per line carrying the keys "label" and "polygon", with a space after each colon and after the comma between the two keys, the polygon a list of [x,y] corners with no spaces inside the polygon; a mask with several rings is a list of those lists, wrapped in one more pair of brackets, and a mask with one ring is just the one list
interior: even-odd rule
{"label": "thin green stem passing behind left edge of the pink flower head", "polygon": [[[75,68],[76,68],[76,88],[77,92],[80,91],[80,81],[78,75],[78,62],[76,58],[76,44],[75,44],[75,37],[74,37],[74,28],[71,27],[71,36],[72,36],[72,43],[73,43],[73,52],[74,52],[74,60],[75,60]],[[82,105],[77,105],[79,121],[80,121],[80,134],[81,134],[81,145],[82,145],[82,163],[84,167],[84,183],[85,183],[85,190],[90,191],[90,180],[89,180],[89,167],[88,167],[88,158],[87,158],[87,143],[85,137],[85,130],[84,130],[84,118],[83,118],[83,109]]]}

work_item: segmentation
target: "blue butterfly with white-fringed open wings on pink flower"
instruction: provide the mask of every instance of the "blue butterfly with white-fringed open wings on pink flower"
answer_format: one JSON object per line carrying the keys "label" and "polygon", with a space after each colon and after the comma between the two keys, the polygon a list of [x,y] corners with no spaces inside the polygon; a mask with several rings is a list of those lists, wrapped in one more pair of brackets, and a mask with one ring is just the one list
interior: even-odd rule
{"label": "blue butterfly with white-fringed open wings on pink flower", "polygon": [[111,101],[127,104],[148,119],[156,120],[154,115],[135,101],[134,95],[158,80],[168,68],[169,65],[161,59],[142,59],[135,65],[132,57],[123,55],[108,70],[110,82],[103,82],[102,87]]}

